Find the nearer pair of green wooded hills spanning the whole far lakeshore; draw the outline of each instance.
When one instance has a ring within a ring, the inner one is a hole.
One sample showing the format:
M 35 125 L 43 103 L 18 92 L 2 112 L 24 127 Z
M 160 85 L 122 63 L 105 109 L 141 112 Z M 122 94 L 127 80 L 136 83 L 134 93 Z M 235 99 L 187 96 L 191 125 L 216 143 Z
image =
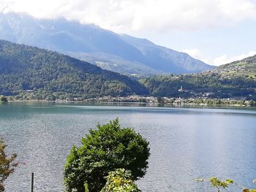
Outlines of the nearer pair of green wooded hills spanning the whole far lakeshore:
M 16 99 L 168 96 L 256 100 L 256 55 L 197 74 L 123 74 L 50 50 L 0 40 L 0 94 Z

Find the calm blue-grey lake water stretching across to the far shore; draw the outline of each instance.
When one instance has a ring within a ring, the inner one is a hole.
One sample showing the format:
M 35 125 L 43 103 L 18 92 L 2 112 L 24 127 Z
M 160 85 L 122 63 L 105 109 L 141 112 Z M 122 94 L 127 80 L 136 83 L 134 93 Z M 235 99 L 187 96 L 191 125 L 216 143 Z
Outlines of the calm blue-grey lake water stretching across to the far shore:
M 31 172 L 34 191 L 62 191 L 72 145 L 116 117 L 150 142 L 148 172 L 137 182 L 142 191 L 213 191 L 194 179 L 214 175 L 256 186 L 255 109 L 12 103 L 0 105 L 0 137 L 23 164 L 8 178 L 6 191 L 29 191 Z

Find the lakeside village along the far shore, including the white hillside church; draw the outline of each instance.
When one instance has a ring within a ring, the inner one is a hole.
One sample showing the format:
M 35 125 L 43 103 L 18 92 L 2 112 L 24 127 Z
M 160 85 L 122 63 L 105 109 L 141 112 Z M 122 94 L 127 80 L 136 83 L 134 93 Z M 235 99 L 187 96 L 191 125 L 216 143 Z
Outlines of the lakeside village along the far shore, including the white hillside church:
M 178 89 L 179 92 L 186 92 L 184 88 Z M 32 91 L 29 91 L 30 93 Z M 26 94 L 22 97 L 0 96 L 0 101 L 53 101 L 56 103 L 138 103 L 138 104 L 170 104 L 170 105 L 206 105 L 206 106 L 234 106 L 234 107 L 253 107 L 256 101 L 246 99 L 213 99 L 211 93 L 200 93 L 195 98 L 174 98 L 174 97 L 159 97 L 159 96 L 101 96 L 96 98 L 66 98 L 52 99 L 34 99 Z

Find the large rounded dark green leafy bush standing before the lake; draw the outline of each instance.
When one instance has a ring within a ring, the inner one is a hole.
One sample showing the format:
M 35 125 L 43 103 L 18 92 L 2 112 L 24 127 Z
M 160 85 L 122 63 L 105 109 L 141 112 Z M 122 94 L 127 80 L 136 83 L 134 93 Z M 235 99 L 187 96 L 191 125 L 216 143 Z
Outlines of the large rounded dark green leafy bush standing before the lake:
M 115 169 L 130 170 L 132 180 L 146 174 L 148 142 L 132 128 L 121 128 L 118 118 L 90 130 L 82 144 L 72 147 L 64 166 L 67 191 L 85 191 L 87 183 L 90 192 L 98 192 L 106 183 L 105 177 Z

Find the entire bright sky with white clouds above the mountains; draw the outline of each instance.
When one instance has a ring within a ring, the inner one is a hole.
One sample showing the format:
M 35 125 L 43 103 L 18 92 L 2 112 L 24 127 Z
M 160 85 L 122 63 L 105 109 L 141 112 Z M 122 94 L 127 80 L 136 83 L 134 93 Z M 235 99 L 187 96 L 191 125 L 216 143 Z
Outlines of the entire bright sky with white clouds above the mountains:
M 256 54 L 256 0 L 0 0 L 0 11 L 94 23 L 217 66 Z

